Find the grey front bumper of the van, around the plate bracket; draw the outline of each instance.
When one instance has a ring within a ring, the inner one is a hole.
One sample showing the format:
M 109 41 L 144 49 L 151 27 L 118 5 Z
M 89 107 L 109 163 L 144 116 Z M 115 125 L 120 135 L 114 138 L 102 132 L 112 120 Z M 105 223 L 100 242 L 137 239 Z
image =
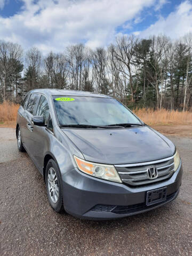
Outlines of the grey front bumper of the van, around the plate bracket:
M 66 212 L 81 219 L 106 220 L 122 218 L 165 205 L 179 194 L 182 165 L 169 180 L 141 187 L 100 180 L 73 169 L 62 176 L 63 203 Z M 166 201 L 146 206 L 146 193 L 167 187 Z

